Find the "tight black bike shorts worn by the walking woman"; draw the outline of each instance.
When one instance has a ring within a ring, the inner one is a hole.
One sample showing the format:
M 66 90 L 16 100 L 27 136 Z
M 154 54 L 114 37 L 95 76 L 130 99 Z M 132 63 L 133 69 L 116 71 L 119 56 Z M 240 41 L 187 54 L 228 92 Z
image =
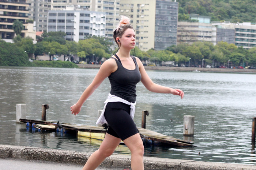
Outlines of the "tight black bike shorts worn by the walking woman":
M 139 133 L 130 116 L 130 107 L 122 102 L 109 102 L 104 112 L 105 119 L 109 124 L 107 133 L 122 139 L 122 141 Z

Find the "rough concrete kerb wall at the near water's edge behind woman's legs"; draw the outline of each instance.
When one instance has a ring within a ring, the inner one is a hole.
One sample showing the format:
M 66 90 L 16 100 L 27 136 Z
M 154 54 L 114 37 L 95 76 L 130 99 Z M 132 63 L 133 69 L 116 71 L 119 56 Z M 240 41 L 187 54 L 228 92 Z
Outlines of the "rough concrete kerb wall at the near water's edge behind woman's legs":
M 1 159 L 15 158 L 84 165 L 90 155 L 91 153 L 80 153 L 76 151 L 0 145 Z M 122 170 L 126 168 L 131 169 L 130 165 L 130 155 L 113 154 L 103 161 L 101 167 L 117 168 Z M 255 170 L 256 166 L 144 157 L 144 168 L 145 170 Z

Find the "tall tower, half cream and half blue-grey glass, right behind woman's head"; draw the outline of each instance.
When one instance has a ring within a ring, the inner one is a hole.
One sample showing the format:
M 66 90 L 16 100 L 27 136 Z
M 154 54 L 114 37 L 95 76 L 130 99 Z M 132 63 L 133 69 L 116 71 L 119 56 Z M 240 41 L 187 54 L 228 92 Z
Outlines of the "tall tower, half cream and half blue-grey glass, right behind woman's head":
M 169 0 L 121 0 L 120 15 L 128 16 L 140 50 L 164 50 L 177 43 L 178 3 Z

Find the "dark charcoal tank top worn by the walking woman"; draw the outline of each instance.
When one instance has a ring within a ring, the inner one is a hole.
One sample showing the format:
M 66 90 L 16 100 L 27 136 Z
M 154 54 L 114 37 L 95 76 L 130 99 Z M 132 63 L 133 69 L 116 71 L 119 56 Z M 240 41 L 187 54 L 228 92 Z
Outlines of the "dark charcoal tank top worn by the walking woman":
M 136 101 L 136 84 L 140 82 L 141 75 L 139 71 L 136 58 L 131 56 L 133 62 L 135 63 L 134 70 L 128 70 L 123 67 L 121 60 L 115 54 L 117 70 L 112 72 L 109 76 L 109 82 L 111 84 L 110 94 L 118 96 L 128 102 L 134 103 Z

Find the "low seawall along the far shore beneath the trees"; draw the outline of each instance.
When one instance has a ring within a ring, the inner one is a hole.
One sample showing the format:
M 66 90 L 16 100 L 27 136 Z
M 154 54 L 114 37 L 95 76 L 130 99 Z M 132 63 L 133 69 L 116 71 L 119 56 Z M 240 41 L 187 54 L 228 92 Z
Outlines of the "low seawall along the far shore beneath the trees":
M 93 64 L 78 64 L 79 68 L 95 68 L 98 69 L 101 65 Z M 165 66 L 144 66 L 146 70 L 172 70 L 172 71 L 202 71 L 202 72 L 241 72 L 241 73 L 256 73 L 256 69 L 238 69 L 238 68 L 197 68 L 197 67 L 165 67 Z

